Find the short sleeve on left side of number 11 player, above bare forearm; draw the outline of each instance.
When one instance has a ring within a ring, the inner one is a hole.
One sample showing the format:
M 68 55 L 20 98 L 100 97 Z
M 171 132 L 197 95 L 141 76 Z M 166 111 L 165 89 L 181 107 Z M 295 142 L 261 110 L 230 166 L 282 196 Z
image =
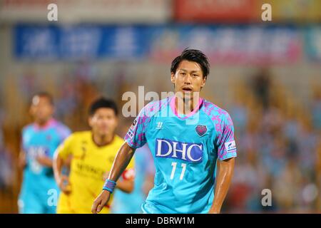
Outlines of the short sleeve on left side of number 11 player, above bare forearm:
M 124 140 L 130 147 L 139 148 L 146 144 L 146 125 L 148 119 L 145 107 L 138 114 L 125 135 Z

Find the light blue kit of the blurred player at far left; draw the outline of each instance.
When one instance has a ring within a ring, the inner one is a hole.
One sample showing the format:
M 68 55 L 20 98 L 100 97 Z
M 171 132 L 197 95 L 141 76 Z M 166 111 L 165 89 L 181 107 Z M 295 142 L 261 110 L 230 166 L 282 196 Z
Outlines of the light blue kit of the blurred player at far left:
M 44 167 L 36 160 L 38 155 L 53 159 L 58 145 L 71 131 L 62 123 L 51 119 L 44 127 L 36 124 L 22 131 L 22 149 L 26 152 L 26 167 L 19 195 L 19 212 L 26 214 L 55 213 L 56 205 L 49 197 L 58 194 L 51 167 Z M 58 195 L 57 195 L 58 197 Z

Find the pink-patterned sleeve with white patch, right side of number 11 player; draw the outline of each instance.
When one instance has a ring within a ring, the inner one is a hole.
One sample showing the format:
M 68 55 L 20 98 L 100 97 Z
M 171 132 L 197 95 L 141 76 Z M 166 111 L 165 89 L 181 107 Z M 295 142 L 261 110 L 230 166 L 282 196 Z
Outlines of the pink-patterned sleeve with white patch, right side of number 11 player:
M 226 160 L 237 156 L 233 121 L 228 113 L 223 115 L 218 134 L 218 159 Z

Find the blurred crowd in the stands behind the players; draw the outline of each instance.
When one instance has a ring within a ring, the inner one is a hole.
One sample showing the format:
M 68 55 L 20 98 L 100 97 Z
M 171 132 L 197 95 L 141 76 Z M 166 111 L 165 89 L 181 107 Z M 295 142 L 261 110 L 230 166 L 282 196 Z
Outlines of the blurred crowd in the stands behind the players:
M 8 101 L 1 95 L 0 212 L 17 212 L 19 142 L 21 128 L 31 121 L 28 108 L 34 93 L 48 88 L 55 98 L 55 117 L 72 130 L 85 130 L 87 108 L 94 98 L 100 94 L 112 97 L 121 110 L 121 94 L 138 86 L 128 86 L 121 73 L 106 83 L 96 78 L 88 64 L 79 65 L 61 81 L 41 85 L 35 73 L 29 72 L 12 85 L 11 90 L 21 95 L 24 111 L 13 114 L 20 120 L 11 118 L 9 110 L 4 110 Z M 298 103 L 268 68 L 230 87 L 231 102 L 220 106 L 233 118 L 238 158 L 223 212 L 320 212 L 321 88 L 314 85 L 311 89 L 312 97 Z M 132 120 L 120 118 L 118 135 L 123 136 Z M 264 189 L 272 192 L 270 207 L 261 203 Z

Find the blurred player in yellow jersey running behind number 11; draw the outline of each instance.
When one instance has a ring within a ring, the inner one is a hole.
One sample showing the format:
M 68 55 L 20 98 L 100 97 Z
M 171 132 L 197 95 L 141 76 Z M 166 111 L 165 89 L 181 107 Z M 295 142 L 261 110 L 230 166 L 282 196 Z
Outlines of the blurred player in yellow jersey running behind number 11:
M 57 213 L 91 213 L 91 205 L 104 186 L 108 172 L 123 139 L 115 134 L 118 110 L 112 100 L 100 98 L 89 110 L 90 131 L 73 133 L 58 147 L 54 157 L 54 173 L 61 189 Z M 70 160 L 68 176 L 63 165 Z M 117 187 L 131 192 L 135 172 L 133 162 L 128 165 Z M 111 201 L 103 208 L 110 212 Z

